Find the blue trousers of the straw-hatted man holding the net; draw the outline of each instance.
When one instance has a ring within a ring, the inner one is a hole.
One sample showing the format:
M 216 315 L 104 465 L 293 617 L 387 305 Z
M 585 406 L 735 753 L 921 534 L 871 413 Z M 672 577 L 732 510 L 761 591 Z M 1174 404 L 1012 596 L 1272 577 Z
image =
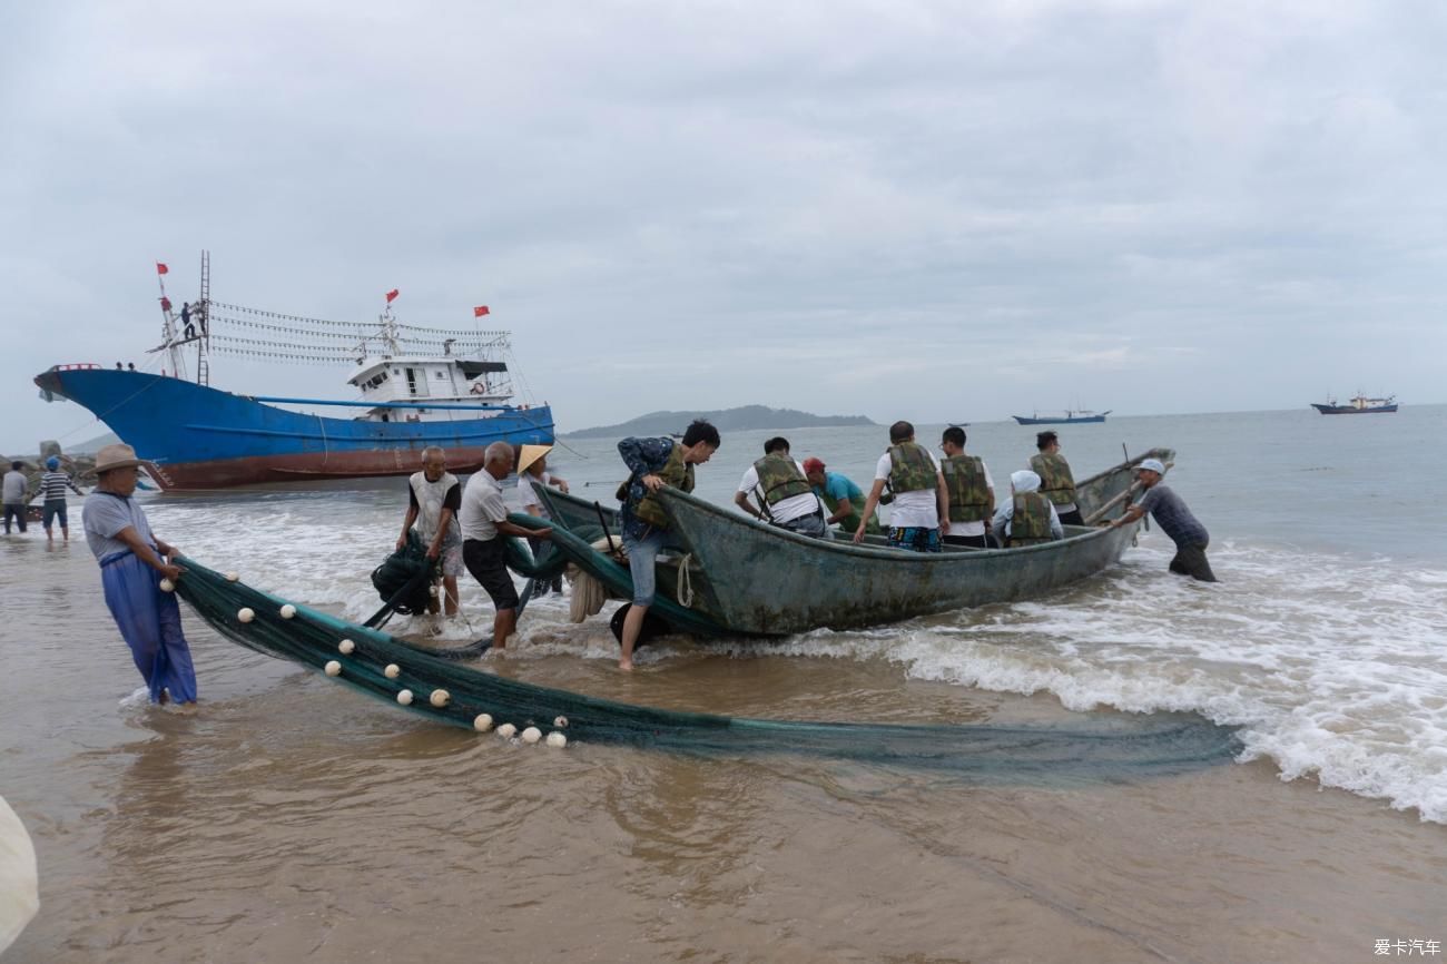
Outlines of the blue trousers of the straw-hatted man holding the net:
M 132 553 L 111 553 L 100 560 L 106 605 L 130 647 L 130 657 L 150 689 L 150 702 L 169 690 L 178 703 L 195 702 L 195 667 L 181 633 L 181 605 L 175 593 L 161 591 L 161 573 Z

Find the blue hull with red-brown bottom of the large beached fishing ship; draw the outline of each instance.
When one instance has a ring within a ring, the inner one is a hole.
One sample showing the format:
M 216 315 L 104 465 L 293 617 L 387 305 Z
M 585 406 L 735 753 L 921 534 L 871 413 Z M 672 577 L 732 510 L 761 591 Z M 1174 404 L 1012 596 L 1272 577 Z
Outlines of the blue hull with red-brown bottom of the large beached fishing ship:
M 447 450 L 449 469 L 472 472 L 493 441 L 553 443 L 547 405 L 492 408 L 453 421 L 382 423 L 307 415 L 140 372 L 52 369 L 35 382 L 93 411 L 136 449 L 166 491 L 410 475 L 427 446 Z

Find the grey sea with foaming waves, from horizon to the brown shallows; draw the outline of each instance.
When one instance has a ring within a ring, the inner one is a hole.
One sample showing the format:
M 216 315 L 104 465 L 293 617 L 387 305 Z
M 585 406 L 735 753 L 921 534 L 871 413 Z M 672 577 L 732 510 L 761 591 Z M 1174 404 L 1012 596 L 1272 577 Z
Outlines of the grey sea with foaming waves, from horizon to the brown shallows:
M 935 446 L 942 428 L 917 426 L 917 439 Z M 699 646 L 731 659 L 878 660 L 916 680 L 1051 693 L 1075 711 L 1192 711 L 1240 727 L 1243 760 L 1268 758 L 1283 779 L 1314 776 L 1447 822 L 1447 452 L 1431 444 L 1447 434 L 1447 407 L 1113 417 L 1053 428 L 1078 479 L 1119 463 L 1123 449 L 1175 449 L 1168 483 L 1210 530 L 1221 582 L 1168 573 L 1172 544 L 1152 530 L 1121 565 L 1036 599 L 765 646 Z M 1036 431 L 967 427 L 967 449 L 985 459 L 997 498 L 1007 496 L 1010 472 L 1026 468 Z M 883 426 L 731 433 L 699 466 L 697 494 L 731 502 L 774 434 L 800 460 L 818 456 L 865 491 L 887 444 Z M 574 495 L 616 505 L 625 469 L 614 440 L 564 436 L 550 469 Z M 353 620 L 378 605 L 366 573 L 395 540 L 405 504 L 399 479 L 148 496 L 158 531 L 197 559 Z M 469 622 L 449 635 L 482 635 L 491 611 L 463 585 Z M 605 631 L 566 622 L 564 601 L 534 602 L 522 622 L 524 641 L 540 637 L 515 647 L 522 659 L 615 659 Z M 641 659 L 687 651 L 658 647 Z

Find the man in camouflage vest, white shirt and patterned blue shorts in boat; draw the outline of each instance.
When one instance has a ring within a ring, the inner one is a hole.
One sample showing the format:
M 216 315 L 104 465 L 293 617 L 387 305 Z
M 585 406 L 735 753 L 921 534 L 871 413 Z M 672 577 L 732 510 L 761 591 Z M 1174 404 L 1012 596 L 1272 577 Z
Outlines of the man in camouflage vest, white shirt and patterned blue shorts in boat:
M 864 501 L 864 518 L 874 515 L 886 483 L 894 494 L 890 546 L 938 553 L 941 534 L 949 534 L 949 489 L 935 454 L 915 441 L 915 426 L 907 421 L 890 426 L 890 447 L 874 466 L 874 488 Z M 854 530 L 854 541 L 864 541 L 864 530 L 861 523 Z

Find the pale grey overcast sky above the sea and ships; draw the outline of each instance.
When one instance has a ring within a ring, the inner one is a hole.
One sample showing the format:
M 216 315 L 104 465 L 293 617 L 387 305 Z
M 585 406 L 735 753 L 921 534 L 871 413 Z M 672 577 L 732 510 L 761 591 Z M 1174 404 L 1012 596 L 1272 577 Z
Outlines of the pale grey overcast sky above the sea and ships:
M 560 430 L 1447 399 L 1447 4 L 6 3 L 0 447 L 192 297 L 514 331 Z M 347 397 L 218 356 L 213 385 Z

